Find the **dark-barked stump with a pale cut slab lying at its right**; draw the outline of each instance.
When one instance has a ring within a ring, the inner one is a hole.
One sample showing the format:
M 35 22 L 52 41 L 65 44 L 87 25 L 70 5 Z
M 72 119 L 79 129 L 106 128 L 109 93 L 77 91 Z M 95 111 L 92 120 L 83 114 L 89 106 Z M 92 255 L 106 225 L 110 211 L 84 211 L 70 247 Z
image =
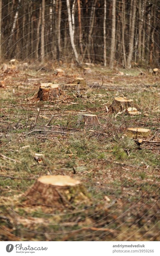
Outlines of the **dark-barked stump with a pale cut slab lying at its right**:
M 126 97 L 116 97 L 114 98 L 109 109 L 111 109 L 113 113 L 118 113 L 125 109 L 128 109 L 129 107 L 133 107 L 133 100 L 127 99 Z

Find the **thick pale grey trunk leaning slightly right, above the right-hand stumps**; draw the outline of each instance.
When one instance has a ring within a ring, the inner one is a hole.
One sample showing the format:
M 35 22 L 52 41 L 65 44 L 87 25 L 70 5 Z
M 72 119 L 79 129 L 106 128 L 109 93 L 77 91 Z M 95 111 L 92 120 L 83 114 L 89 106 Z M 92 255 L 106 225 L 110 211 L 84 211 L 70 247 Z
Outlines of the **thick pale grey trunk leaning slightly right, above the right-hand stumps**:
M 134 30 L 135 30 L 135 14 L 136 14 L 136 1 L 133 0 L 133 7 L 132 7 L 132 20 L 131 20 L 131 33 L 129 38 L 130 47 L 128 50 L 128 58 L 127 58 L 127 68 L 131 68 L 131 60 L 133 55 L 133 43 L 134 43 Z

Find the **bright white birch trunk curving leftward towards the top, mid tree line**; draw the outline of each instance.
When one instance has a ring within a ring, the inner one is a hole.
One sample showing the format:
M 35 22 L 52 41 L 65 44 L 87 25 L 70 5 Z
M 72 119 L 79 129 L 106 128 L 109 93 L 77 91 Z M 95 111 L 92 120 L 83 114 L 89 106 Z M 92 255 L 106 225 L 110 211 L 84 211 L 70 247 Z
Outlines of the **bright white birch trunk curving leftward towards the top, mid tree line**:
M 72 18 L 71 18 L 71 10 L 70 10 L 70 3 L 69 0 L 67 1 L 67 11 L 68 11 L 68 23 L 69 23 L 69 34 L 70 34 L 70 40 L 71 40 L 71 45 L 72 49 L 76 58 L 76 62 L 79 64 L 79 58 L 78 58 L 78 53 L 76 50 L 76 46 L 74 44 L 74 34 L 73 34 L 73 27 L 72 27 Z

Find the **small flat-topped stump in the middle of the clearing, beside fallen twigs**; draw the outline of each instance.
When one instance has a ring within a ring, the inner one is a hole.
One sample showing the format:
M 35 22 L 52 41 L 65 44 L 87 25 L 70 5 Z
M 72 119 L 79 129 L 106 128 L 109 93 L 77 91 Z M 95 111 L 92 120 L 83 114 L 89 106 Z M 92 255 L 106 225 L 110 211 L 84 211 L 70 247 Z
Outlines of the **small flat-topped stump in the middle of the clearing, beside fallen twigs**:
M 77 125 L 99 125 L 99 120 L 97 115 L 82 114 L 77 120 Z

